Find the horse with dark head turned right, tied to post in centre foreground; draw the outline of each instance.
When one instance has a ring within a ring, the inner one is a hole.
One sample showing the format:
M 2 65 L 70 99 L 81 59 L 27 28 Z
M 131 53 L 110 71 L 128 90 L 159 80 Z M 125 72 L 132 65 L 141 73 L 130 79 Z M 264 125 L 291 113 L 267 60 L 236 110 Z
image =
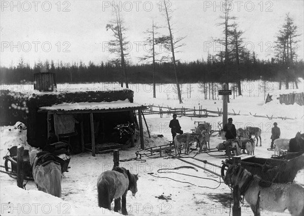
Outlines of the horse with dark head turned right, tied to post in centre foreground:
M 137 180 L 138 174 L 131 174 L 128 169 L 122 167 L 114 167 L 112 170 L 102 172 L 97 179 L 98 206 L 110 210 L 114 199 L 114 211 L 118 212 L 122 209 L 122 213 L 127 215 L 126 196 L 128 190 L 135 196 Z

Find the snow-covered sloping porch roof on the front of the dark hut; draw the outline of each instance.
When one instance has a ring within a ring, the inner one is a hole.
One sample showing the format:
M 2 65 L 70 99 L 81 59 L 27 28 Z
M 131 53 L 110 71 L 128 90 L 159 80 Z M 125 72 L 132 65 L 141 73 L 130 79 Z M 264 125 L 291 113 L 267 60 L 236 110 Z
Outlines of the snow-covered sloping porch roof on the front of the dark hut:
M 136 109 L 144 108 L 146 106 L 137 103 L 130 103 L 128 99 L 121 101 L 111 101 L 111 102 L 80 102 L 80 103 L 62 103 L 52 106 L 40 107 L 42 111 L 84 111 L 84 110 L 122 110 L 122 109 Z

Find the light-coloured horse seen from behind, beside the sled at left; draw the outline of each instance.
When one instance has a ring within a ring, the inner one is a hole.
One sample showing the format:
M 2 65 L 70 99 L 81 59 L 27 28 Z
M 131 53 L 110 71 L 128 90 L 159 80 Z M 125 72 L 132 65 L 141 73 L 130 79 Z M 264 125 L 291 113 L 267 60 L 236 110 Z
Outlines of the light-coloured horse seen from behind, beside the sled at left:
M 39 191 L 61 197 L 61 165 L 50 154 L 47 157 L 40 154 L 39 149 L 30 149 L 29 158 L 32 166 L 33 179 Z M 42 152 L 43 153 L 43 152 Z

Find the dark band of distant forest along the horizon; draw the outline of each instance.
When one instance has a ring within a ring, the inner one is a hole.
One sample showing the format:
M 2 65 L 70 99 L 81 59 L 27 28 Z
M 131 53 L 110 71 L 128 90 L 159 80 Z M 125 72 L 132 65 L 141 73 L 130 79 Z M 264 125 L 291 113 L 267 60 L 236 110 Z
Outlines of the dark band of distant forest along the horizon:
M 286 77 L 290 81 L 298 77 L 304 78 L 303 61 L 294 61 L 292 68 L 271 61 L 248 59 L 240 63 L 239 67 L 231 63 L 228 71 L 228 81 L 237 80 L 269 80 L 283 81 Z M 1 82 L 18 83 L 20 81 L 33 81 L 33 74 L 37 72 L 52 72 L 56 74 L 56 82 L 115 82 L 121 81 L 121 67 L 116 62 L 101 62 L 96 65 L 80 63 L 54 63 L 39 62 L 34 67 L 20 60 L 17 66 L 10 68 L 0 67 Z M 177 62 L 177 73 L 181 83 L 193 82 L 223 82 L 225 79 L 224 63 L 215 58 L 207 61 Z M 151 83 L 153 82 L 153 66 L 150 64 L 127 65 L 128 82 Z M 155 79 L 157 83 L 174 83 L 174 71 L 172 63 L 157 63 Z

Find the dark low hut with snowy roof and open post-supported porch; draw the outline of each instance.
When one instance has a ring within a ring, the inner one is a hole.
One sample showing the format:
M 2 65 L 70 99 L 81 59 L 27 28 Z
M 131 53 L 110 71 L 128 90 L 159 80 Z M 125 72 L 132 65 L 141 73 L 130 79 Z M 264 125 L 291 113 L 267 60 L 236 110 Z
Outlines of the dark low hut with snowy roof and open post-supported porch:
M 43 148 L 48 143 L 67 141 L 73 153 L 90 150 L 95 155 L 126 143 L 133 145 L 136 126 L 144 148 L 141 110 L 146 107 L 133 103 L 133 94 L 129 89 L 25 94 L 6 91 L 1 95 L 5 102 L 1 111 L 7 118 L 17 115 L 26 123 L 31 146 Z M 22 104 L 24 109 L 12 109 L 12 104 Z

